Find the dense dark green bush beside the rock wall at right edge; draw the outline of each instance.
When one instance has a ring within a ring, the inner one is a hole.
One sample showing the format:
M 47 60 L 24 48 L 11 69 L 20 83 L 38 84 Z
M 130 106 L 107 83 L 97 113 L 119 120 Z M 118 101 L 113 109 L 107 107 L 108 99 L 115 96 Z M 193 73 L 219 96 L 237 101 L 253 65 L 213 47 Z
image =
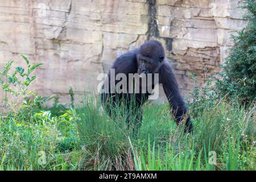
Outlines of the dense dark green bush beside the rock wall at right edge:
M 247 0 L 243 8 L 247 9 L 249 23 L 237 36 L 232 36 L 234 46 L 216 86 L 221 97 L 227 95 L 230 101 L 239 99 L 247 104 L 255 99 L 256 93 L 256 3 Z

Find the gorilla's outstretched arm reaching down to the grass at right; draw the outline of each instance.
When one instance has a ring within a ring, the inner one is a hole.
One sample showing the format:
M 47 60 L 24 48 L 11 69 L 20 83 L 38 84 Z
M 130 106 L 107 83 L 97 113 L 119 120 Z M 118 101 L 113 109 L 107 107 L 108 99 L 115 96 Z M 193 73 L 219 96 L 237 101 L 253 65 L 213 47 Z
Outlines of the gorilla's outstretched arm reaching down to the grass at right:
M 170 103 L 172 115 L 176 123 L 179 124 L 187 113 L 187 106 L 180 95 L 174 72 L 167 60 L 164 60 L 162 67 L 159 69 L 159 82 L 163 84 L 164 93 Z M 192 131 L 192 123 L 189 116 L 185 123 L 185 131 Z

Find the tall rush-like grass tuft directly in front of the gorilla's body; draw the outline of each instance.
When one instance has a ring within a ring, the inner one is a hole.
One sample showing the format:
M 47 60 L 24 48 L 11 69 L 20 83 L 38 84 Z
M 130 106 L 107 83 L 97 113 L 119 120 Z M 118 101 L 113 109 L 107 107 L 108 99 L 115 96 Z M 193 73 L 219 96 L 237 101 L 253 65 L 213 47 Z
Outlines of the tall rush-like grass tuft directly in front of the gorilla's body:
M 93 95 L 85 97 L 78 106 L 76 125 L 86 168 L 134 169 L 128 140 L 133 130 L 127 128 L 126 111 L 120 108 L 112 108 L 115 117 L 109 117 Z

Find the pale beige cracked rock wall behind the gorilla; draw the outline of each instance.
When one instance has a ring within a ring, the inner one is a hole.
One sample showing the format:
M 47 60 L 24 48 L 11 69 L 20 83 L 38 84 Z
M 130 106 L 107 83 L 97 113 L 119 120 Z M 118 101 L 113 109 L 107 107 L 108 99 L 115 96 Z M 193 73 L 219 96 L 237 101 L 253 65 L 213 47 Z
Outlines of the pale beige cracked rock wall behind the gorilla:
M 95 89 L 97 75 L 115 57 L 148 39 L 162 42 L 183 96 L 218 71 L 232 46 L 230 35 L 246 26 L 237 0 L 0 0 L 0 66 L 24 65 L 20 53 L 43 63 L 33 90 L 68 102 Z M 0 91 L 0 96 L 3 92 Z

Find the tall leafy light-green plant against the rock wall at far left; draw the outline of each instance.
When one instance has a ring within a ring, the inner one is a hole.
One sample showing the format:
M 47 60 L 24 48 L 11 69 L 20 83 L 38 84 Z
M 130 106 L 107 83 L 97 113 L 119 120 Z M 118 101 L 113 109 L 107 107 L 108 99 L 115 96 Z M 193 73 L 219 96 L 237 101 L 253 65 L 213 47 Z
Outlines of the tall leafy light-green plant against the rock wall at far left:
M 5 97 L 2 99 L 2 107 L 9 108 L 17 111 L 21 106 L 23 108 L 41 108 L 42 105 L 51 100 L 51 97 L 38 96 L 35 92 L 28 91 L 28 86 L 31 85 L 36 78 L 33 76 L 35 69 L 38 68 L 42 63 L 30 64 L 27 57 L 21 55 L 23 60 L 27 64 L 27 68 L 15 67 L 14 71 L 11 72 L 11 68 L 14 61 L 8 61 L 4 70 L 0 71 L 0 75 L 5 77 L 5 81 L 1 81 L 2 90 L 5 92 Z M 7 94 L 11 94 L 14 100 L 7 97 Z

